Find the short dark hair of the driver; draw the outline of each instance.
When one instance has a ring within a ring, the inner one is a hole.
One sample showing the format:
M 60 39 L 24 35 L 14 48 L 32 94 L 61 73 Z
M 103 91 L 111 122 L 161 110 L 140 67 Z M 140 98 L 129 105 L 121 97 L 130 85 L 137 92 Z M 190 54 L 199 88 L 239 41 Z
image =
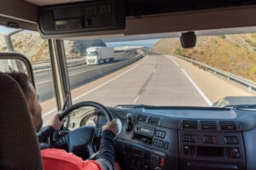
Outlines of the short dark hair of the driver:
M 26 97 L 26 102 L 34 98 L 34 96 L 32 95 L 31 89 L 29 88 L 29 82 L 31 82 L 31 80 L 26 75 L 26 73 L 13 71 L 13 72 L 7 72 L 6 74 L 9 75 L 9 77 L 12 77 L 13 79 L 15 79 L 15 81 L 19 83 L 20 88 L 22 89 L 22 92 Z

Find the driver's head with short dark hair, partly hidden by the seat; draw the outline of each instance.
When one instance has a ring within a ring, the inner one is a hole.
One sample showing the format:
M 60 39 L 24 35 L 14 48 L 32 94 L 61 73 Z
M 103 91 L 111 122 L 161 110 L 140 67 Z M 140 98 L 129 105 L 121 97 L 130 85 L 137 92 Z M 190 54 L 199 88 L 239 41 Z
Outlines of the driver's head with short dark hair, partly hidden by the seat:
M 20 84 L 20 88 L 23 91 L 23 94 L 26 97 L 26 103 L 28 106 L 28 110 L 30 112 L 30 116 L 32 117 L 32 121 L 34 123 L 35 129 L 38 132 L 42 125 L 42 107 L 39 104 L 39 96 L 36 92 L 36 89 L 33 87 L 30 78 L 26 76 L 23 72 L 10 72 L 7 73 L 10 77 L 13 77 L 16 82 Z

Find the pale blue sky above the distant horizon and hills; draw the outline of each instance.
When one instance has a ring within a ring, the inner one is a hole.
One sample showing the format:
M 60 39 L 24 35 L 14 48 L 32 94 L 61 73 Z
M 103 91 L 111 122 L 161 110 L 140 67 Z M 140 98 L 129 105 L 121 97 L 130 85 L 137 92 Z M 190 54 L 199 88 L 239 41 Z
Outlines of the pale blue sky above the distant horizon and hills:
M 9 28 L 6 26 L 0 26 L 0 33 L 7 33 L 10 31 L 15 31 L 16 29 Z M 153 48 L 154 44 L 158 42 L 159 39 L 150 39 L 150 40 L 139 40 L 139 41 L 128 41 L 128 42 L 107 42 L 108 47 L 121 47 L 121 46 L 139 46 L 139 47 L 148 47 Z

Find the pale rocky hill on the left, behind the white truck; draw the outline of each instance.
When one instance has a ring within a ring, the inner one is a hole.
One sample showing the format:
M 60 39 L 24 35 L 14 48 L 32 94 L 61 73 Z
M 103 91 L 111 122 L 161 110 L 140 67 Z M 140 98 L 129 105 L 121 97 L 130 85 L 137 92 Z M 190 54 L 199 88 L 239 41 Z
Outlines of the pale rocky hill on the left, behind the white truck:
M 38 32 L 20 32 L 11 37 L 17 53 L 24 54 L 31 61 L 49 60 L 47 40 L 41 39 Z M 86 48 L 106 47 L 102 40 L 65 40 L 66 57 L 76 58 L 85 55 Z M 0 34 L 0 52 L 8 52 L 3 34 Z

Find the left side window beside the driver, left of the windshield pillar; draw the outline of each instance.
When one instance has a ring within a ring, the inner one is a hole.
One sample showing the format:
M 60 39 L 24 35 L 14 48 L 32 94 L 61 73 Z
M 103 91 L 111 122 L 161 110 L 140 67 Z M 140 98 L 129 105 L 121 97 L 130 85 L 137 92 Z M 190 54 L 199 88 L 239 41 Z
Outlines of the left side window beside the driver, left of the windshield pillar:
M 46 124 L 57 111 L 48 40 L 42 39 L 37 31 L 15 31 L 0 26 L 0 52 L 23 54 L 30 60 Z M 10 33 L 15 34 L 9 37 Z

